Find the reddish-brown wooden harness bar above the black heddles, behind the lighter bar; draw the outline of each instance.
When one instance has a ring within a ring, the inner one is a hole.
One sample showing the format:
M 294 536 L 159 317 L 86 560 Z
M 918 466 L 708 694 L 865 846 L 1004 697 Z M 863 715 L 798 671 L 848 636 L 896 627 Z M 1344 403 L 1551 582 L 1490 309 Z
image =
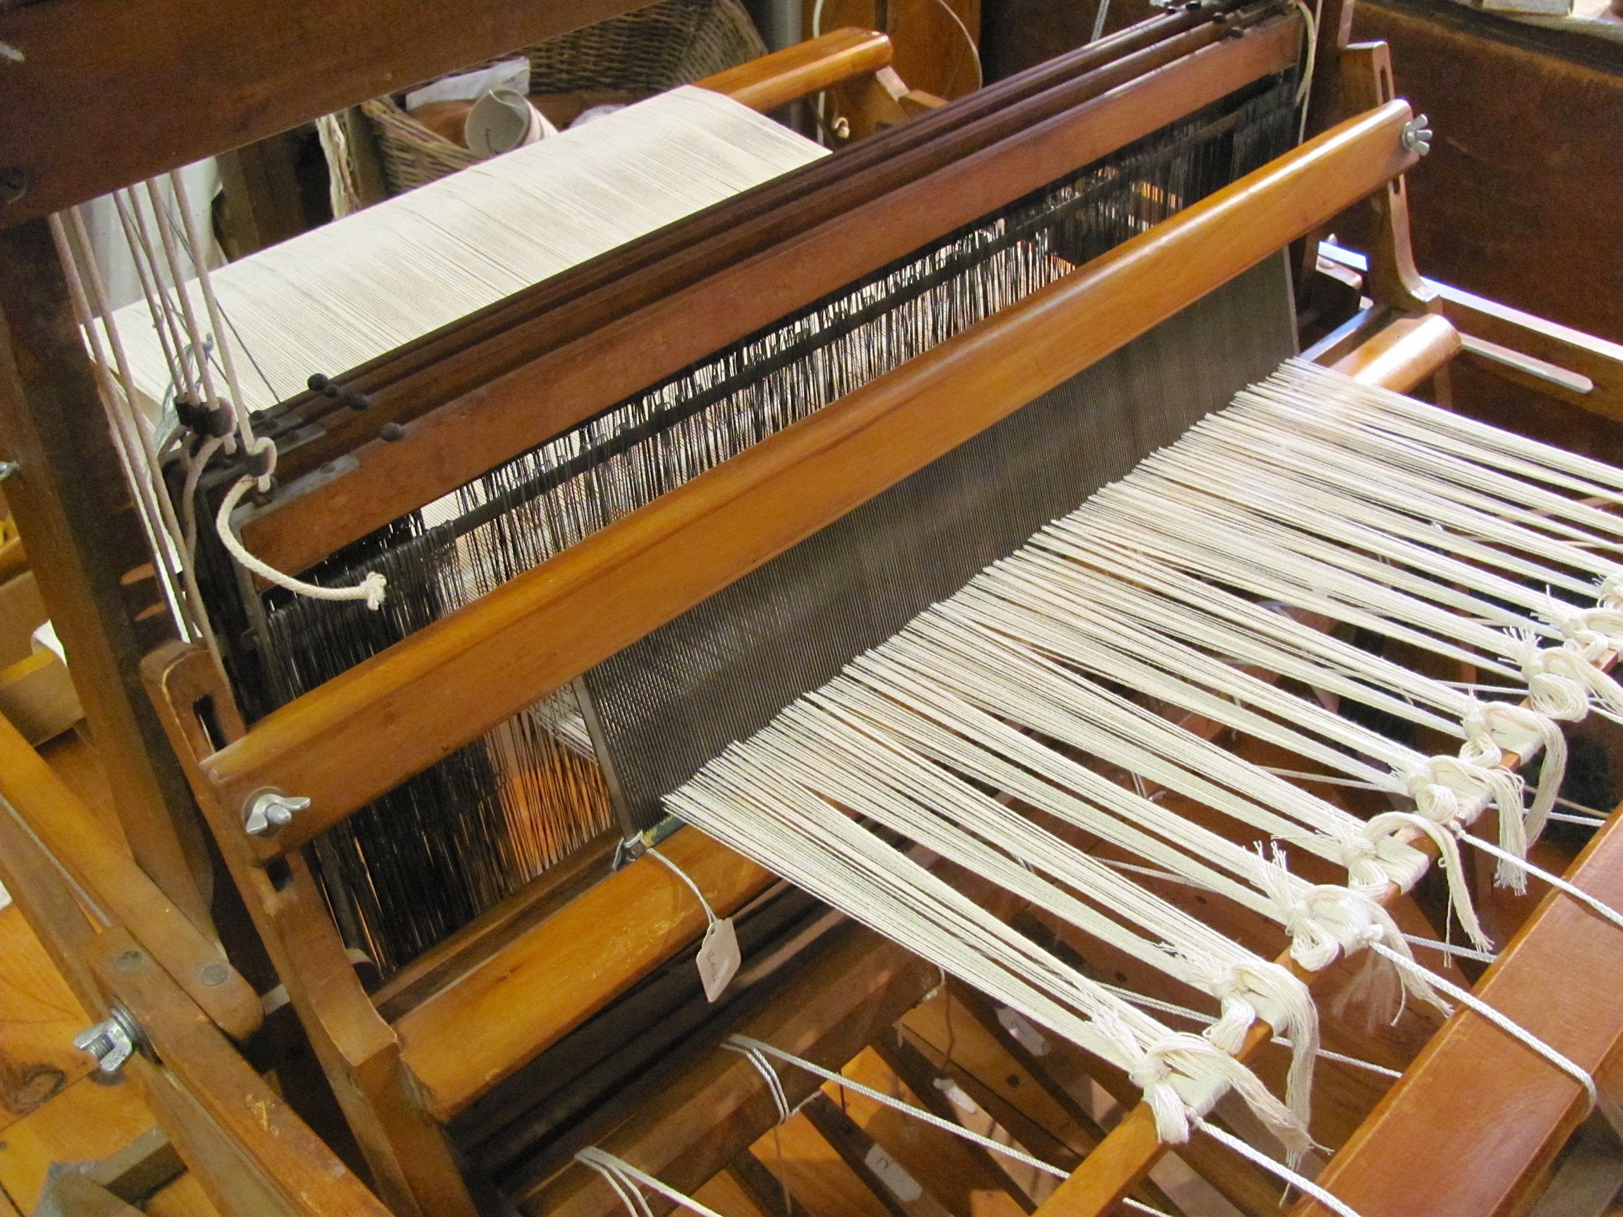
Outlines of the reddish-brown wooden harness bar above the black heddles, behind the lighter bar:
M 607 284 L 592 295 L 571 299 L 558 316 L 536 320 L 534 334 L 513 329 L 500 342 L 492 339 L 502 349 L 527 342 L 531 349 L 523 355 L 510 350 L 503 362 L 489 350 L 458 352 L 422 380 L 438 385 L 454 376 L 453 383 L 464 385 L 459 396 L 433 398 L 435 409 L 414 422 L 409 412 L 396 415 L 406 419 L 396 440 L 370 436 L 385 417 L 403 409 L 404 404 L 391 406 L 403 386 L 375 394 L 365 417 L 349 424 L 367 427 L 368 441 L 289 485 L 263 513 L 248 513 L 240 522 L 243 542 L 273 566 L 305 570 L 339 545 L 828 292 L 1185 117 L 1191 107 L 1284 70 L 1295 62 L 1300 23 L 1295 16 L 1277 18 L 1242 39 L 1219 36 L 1220 29 L 1206 26 L 1113 62 L 1065 89 L 1092 101 L 1014 127 L 998 143 L 972 148 L 923 177 L 904 178 L 876 198 L 859 195 L 815 226 L 787 227 L 800 214 L 799 206 L 760 216 L 738 234 L 717 239 L 706 256 L 722 256 L 698 281 L 691 279 L 691 263 L 704 248 L 680 250 L 672 258 L 674 269 L 652 276 L 657 290 L 636 302 L 635 310 L 613 303 L 620 289 Z M 1208 45 L 1198 49 L 1203 42 Z M 1164 67 L 1147 70 L 1156 63 Z M 1047 105 L 1048 99 L 1035 99 L 1024 109 L 1040 114 Z M 1018 117 L 997 115 L 987 125 L 1003 130 Z M 860 151 L 859 146 L 855 153 Z M 936 149 L 927 151 L 933 156 Z M 881 166 L 875 172 L 899 170 Z M 852 188 L 863 180 L 867 175 L 859 175 Z M 833 187 L 829 198 L 839 198 Z M 732 204 L 725 209 L 730 214 Z M 461 360 L 472 362 L 477 375 L 463 370 Z M 312 445 L 308 456 L 295 448 L 289 469 L 334 454 L 333 445 L 325 443 Z

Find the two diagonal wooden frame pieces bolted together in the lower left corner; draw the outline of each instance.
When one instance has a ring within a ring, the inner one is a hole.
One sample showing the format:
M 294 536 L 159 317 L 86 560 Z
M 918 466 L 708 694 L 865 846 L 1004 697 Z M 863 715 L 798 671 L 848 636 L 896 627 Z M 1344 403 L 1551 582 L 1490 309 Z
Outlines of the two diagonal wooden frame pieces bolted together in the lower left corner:
M 80 1004 L 135 1019 L 125 1068 L 224 1217 L 390 1217 L 221 1032 L 258 1026 L 253 990 L 3 719 L 0 881 Z

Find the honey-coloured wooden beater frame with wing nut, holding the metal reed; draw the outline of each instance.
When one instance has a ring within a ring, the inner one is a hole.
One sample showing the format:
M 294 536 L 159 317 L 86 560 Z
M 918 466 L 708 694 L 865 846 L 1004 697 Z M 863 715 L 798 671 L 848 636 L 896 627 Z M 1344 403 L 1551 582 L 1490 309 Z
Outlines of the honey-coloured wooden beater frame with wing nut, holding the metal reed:
M 398 664 L 404 656 L 415 669 L 425 657 L 428 662 L 420 664 L 420 672 L 428 680 L 448 678 L 451 686 L 479 690 L 479 699 L 487 704 L 498 696 L 513 701 L 514 707 L 529 704 L 545 691 L 547 682 L 555 686 L 573 678 L 639 636 L 630 631 L 646 631 L 669 620 L 1341 208 L 1384 190 L 1414 161 L 1399 138 L 1409 117 L 1407 105 L 1389 102 L 1349 120 L 1079 268 L 1053 289 L 610 526 L 597 534 L 596 545 L 589 540 L 506 584 L 464 610 L 459 621 L 446 618 L 463 630 L 471 623 L 466 638 L 477 634 L 497 641 L 503 649 L 500 680 L 467 662 L 466 654 L 453 657 L 458 633 L 451 634 L 451 649 L 433 636 L 417 634 L 380 659 L 393 657 Z M 1208 256 L 1190 256 L 1196 247 Z M 920 427 L 920 417 L 928 417 L 930 425 Z M 836 469 L 847 472 L 834 475 Z M 794 503 L 799 510 L 789 511 Z M 703 531 L 717 522 L 719 532 L 701 539 L 683 535 L 695 524 Z M 683 552 L 687 561 L 670 561 L 670 555 Z M 709 570 L 672 584 L 669 571 L 693 574 L 693 555 L 706 552 L 714 557 Z M 625 565 L 626 557 L 630 565 Z M 560 566 L 571 573 L 560 578 Z M 617 568 L 622 573 L 617 574 Z M 626 578 L 631 581 L 617 586 L 615 579 Z M 560 597 L 557 589 L 570 581 L 578 587 L 575 597 Z M 630 626 L 618 623 L 612 631 L 604 630 L 609 621 L 604 605 L 625 602 L 625 589 L 636 591 L 631 599 L 644 605 L 644 615 Z M 529 600 L 537 591 L 540 599 Z M 513 600 L 514 596 L 519 599 Z M 537 605 L 542 612 L 536 612 Z M 596 636 L 568 633 L 583 626 Z M 514 664 L 534 646 L 534 630 L 542 631 L 552 651 L 550 667 L 539 682 Z M 385 743 L 403 730 L 422 732 L 414 707 L 445 704 L 446 695 L 415 686 L 415 675 L 399 682 L 388 664 L 375 660 L 372 667 L 385 669 L 385 685 L 398 696 L 393 704 L 377 701 L 367 685 L 357 693 L 333 682 L 302 699 L 304 704 L 294 703 L 292 712 L 282 712 L 281 720 L 271 716 L 250 732 L 235 720 L 229 693 L 204 652 L 170 649 L 154 656 L 148 677 L 195 793 L 316 1053 L 334 1076 L 385 1199 L 406 1212 L 419 1211 L 417 1206 L 456 1212 L 466 1211 L 459 1202 L 471 1202 L 466 1193 L 458 1196 L 454 1168 L 430 1118 L 453 1116 L 557 1035 L 578 1026 L 670 948 L 696 935 L 703 915 L 662 868 L 649 867 L 648 860 L 633 863 L 424 1000 L 394 1026 L 385 1022 L 354 977 L 315 879 L 295 849 L 373 792 L 351 785 L 342 797 L 354 802 L 344 806 L 333 800 L 333 789 L 320 787 L 308 826 L 295 823 L 292 832 L 269 842 L 242 832 L 239 811 L 242 793 L 269 785 L 295 793 L 316 789 L 312 785 L 316 769 L 308 768 L 308 761 L 312 750 L 321 745 L 315 738 L 318 733 L 308 732 L 310 706 L 326 712 L 341 707 L 341 716 L 359 729 L 344 746 L 359 742 L 364 751 L 354 755 L 373 758 L 378 766 L 373 781 L 381 782 L 378 790 L 407 776 L 409 766 L 435 759 L 435 748 L 419 748 L 403 764 Z M 498 690 L 503 691 L 498 695 Z M 219 740 L 204 735 L 200 703 L 211 703 Z M 458 714 L 466 711 L 467 706 L 458 703 Z M 386 722 L 383 732 L 357 717 L 378 712 L 381 717 L 368 720 Z M 292 745 L 300 768 L 289 771 L 291 781 L 281 771 L 260 769 L 253 756 L 255 750 L 278 756 L 287 748 L 281 725 L 287 722 L 300 735 Z M 438 724 L 435 730 L 440 732 L 435 746 L 450 748 L 466 742 L 459 735 L 472 738 L 482 727 L 464 717 Z M 266 740 L 273 745 L 268 750 L 263 748 Z M 232 777 L 222 781 L 222 774 Z M 339 806 L 342 811 L 336 810 Z M 672 837 L 665 852 L 700 883 L 721 914 L 738 907 L 769 881 L 753 863 L 688 831 Z M 607 910 L 617 914 L 613 923 L 636 930 L 605 938 Z M 597 957 L 609 943 L 617 953 L 615 967 L 604 967 Z M 573 956 L 579 956 L 578 965 L 571 965 Z M 578 987 L 588 975 L 596 975 L 597 982 L 565 996 L 553 983 L 560 970 L 575 975 Z M 513 1008 L 526 1009 L 526 1017 L 506 1017 Z M 474 1027 L 479 1034 L 471 1034 Z

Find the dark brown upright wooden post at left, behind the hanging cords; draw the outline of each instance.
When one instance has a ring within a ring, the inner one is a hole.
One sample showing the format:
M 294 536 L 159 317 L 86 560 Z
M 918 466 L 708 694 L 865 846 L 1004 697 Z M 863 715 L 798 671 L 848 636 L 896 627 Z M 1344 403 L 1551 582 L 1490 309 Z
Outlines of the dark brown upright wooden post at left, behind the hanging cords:
M 174 630 L 42 219 L 0 232 L 0 456 L 130 850 L 213 935 L 201 826 L 140 677 Z

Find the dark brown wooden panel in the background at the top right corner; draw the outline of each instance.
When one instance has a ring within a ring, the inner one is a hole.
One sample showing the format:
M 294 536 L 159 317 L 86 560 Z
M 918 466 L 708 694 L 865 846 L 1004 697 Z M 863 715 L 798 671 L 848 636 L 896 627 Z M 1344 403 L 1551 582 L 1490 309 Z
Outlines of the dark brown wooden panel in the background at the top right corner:
M 1608 71 L 1440 8 L 1360 3 L 1354 18 L 1355 37 L 1391 44 L 1399 94 L 1436 131 L 1409 174 L 1415 261 L 1433 279 L 1623 339 L 1623 45 L 1610 44 Z

